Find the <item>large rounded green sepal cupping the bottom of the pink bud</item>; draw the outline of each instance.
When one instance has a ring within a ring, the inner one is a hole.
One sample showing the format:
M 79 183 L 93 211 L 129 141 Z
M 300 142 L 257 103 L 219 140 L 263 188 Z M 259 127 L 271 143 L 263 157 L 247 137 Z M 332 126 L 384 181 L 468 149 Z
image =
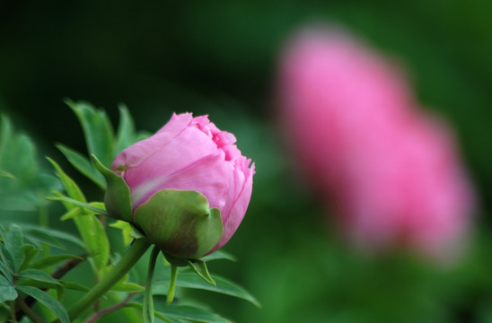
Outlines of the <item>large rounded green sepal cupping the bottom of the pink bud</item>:
M 224 230 L 220 210 L 210 209 L 206 196 L 176 189 L 163 189 L 138 206 L 133 223 L 163 252 L 187 259 L 205 256 Z

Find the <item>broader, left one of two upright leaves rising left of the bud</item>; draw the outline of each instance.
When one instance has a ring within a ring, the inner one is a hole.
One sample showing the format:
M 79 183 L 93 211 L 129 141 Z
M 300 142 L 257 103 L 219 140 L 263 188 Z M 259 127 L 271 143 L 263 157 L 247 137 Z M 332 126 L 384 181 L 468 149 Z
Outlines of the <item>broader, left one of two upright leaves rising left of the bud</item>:
M 106 112 L 94 109 L 86 102 L 67 100 L 66 104 L 74 110 L 81 123 L 89 153 L 98 156 L 102 164 L 110 166 L 113 160 L 114 132 Z

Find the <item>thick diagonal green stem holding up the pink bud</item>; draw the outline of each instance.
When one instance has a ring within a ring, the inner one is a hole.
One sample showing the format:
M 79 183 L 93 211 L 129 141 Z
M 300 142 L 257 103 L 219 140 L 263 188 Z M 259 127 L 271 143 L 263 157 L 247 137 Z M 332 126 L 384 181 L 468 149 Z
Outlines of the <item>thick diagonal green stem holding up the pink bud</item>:
M 95 301 L 99 300 L 112 286 L 117 284 L 132 266 L 136 264 L 136 261 L 145 254 L 145 251 L 149 249 L 150 246 L 151 244 L 144 239 L 134 240 L 119 263 L 114 266 L 107 275 L 102 277 L 99 284 L 96 284 L 92 287 L 92 290 L 83 295 L 83 298 L 80 299 L 80 301 L 77 301 L 72 309 L 68 310 L 70 321 L 74 321 L 78 318 L 84 310 L 91 306 Z

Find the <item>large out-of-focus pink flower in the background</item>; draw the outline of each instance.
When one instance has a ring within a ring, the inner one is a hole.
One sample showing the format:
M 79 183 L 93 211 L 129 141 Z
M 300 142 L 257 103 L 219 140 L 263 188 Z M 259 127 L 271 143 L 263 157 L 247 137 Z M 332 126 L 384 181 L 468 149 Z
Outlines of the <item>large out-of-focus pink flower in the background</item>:
M 470 184 L 449 130 L 417 109 L 395 65 L 346 31 L 303 31 L 281 59 L 279 105 L 303 173 L 351 240 L 452 253 Z

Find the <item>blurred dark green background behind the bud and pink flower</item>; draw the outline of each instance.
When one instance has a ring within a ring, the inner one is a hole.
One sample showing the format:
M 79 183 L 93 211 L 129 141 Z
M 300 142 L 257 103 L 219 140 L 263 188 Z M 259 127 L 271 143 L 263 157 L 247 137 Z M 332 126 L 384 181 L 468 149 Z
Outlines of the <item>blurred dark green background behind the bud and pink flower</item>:
M 248 214 L 225 247 L 238 262 L 211 270 L 263 308 L 190 296 L 234 321 L 491 322 L 492 3 L 398 3 L 2 1 L 0 113 L 40 144 L 41 156 L 60 161 L 55 143 L 85 149 L 65 98 L 104 107 L 115 125 L 123 102 L 138 129 L 192 111 L 233 132 L 257 174 Z M 400 62 L 417 100 L 452 125 L 479 200 L 457 264 L 351 249 L 295 172 L 272 88 L 280 48 L 309 22 L 341 24 Z

